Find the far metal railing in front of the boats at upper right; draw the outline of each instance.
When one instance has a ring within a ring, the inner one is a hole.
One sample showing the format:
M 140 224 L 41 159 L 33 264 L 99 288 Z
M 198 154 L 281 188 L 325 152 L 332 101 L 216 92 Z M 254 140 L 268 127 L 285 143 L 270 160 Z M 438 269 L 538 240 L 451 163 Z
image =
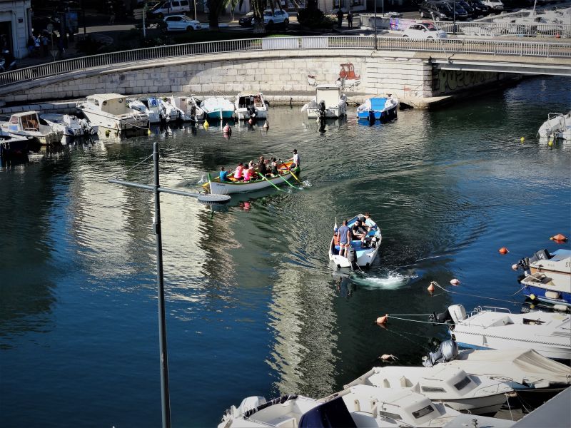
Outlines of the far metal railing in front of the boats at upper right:
M 452 22 L 441 22 L 440 29 L 454 32 Z M 571 37 L 571 24 L 515 24 L 510 22 L 457 22 L 456 33 L 466 36 L 552 36 Z

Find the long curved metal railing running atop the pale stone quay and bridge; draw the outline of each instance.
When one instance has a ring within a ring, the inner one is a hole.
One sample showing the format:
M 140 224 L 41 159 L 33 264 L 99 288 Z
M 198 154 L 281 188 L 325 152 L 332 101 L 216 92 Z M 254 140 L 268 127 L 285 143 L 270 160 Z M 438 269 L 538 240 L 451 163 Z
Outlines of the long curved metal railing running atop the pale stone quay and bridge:
M 378 37 L 380 51 L 439 51 L 459 54 L 488 54 L 507 56 L 540 56 L 571 58 L 571 44 L 535 41 L 490 39 L 438 39 L 420 40 L 403 37 Z M 0 87 L 14 85 L 64 73 L 106 69 L 120 64 L 143 63 L 156 59 L 181 58 L 226 52 L 273 51 L 296 49 L 375 49 L 374 36 L 310 36 L 241 39 L 190 43 L 131 51 L 111 52 L 82 56 L 38 66 L 0 73 Z

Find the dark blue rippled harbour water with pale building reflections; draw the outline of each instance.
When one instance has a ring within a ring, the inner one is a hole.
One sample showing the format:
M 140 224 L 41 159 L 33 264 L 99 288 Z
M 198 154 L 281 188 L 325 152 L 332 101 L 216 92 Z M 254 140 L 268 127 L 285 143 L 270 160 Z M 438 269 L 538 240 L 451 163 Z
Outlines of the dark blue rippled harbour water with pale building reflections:
M 400 320 L 384 330 L 373 323 L 380 315 L 510 305 L 430 297 L 432 280 L 522 301 L 511 297 L 512 263 L 571 235 L 571 147 L 535 139 L 548 112 L 569 110 L 570 83 L 533 78 L 383 126 L 330 122 L 325 133 L 298 108 L 276 107 L 268 132 L 234 128 L 227 140 L 217 126 L 196 135 L 184 126 L 4 164 L 4 426 L 160 426 L 152 195 L 106 182 L 151 183 L 148 161 L 132 167 L 153 141 L 161 182 L 174 188 L 261 153 L 297 148 L 302 158 L 302 190 L 233 196 L 216 209 L 161 196 L 173 427 L 207 427 L 248 395 L 335 392 L 383 354 L 418 364 L 445 337 Z M 333 272 L 335 217 L 365 210 L 383 232 L 378 264 Z

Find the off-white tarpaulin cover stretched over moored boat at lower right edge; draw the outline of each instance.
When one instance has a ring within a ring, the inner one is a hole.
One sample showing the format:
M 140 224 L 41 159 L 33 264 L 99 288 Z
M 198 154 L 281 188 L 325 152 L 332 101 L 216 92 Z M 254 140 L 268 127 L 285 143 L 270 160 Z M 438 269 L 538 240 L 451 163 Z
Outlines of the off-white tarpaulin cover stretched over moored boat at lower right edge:
M 465 350 L 445 363 L 468 374 L 506 377 L 520 384 L 547 387 L 549 383 L 571 383 L 571 367 L 543 357 L 534 350 Z

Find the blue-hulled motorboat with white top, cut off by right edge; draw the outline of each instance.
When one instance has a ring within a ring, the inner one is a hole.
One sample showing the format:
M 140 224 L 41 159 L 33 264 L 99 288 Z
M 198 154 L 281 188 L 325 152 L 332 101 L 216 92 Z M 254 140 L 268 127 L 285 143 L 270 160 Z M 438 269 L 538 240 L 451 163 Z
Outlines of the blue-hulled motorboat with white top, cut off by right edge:
M 523 294 L 532 300 L 571 306 L 571 250 L 537 251 L 515 265 L 524 271 Z

